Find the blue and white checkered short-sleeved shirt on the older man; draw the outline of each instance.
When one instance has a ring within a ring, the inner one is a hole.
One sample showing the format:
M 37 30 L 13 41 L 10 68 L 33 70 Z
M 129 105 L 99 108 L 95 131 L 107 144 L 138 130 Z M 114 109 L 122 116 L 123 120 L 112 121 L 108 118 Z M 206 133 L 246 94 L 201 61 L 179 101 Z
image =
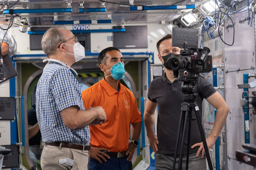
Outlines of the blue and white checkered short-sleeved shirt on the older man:
M 69 142 L 89 145 L 89 126 L 71 130 L 63 122 L 60 111 L 77 105 L 84 110 L 80 85 L 67 67 L 50 62 L 37 84 L 37 120 L 44 142 Z M 72 113 L 70 113 L 72 114 Z

